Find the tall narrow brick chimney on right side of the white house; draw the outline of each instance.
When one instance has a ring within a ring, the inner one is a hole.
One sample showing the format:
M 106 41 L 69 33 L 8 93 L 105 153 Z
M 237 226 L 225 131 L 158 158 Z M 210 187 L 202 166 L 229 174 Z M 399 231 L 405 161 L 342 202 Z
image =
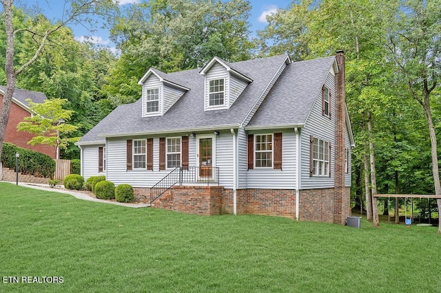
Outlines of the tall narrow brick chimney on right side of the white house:
M 350 188 L 345 188 L 345 134 L 346 134 L 346 95 L 345 95 L 345 52 L 336 52 L 338 73 L 336 74 L 336 142 L 334 163 L 334 223 L 345 224 L 350 215 Z

